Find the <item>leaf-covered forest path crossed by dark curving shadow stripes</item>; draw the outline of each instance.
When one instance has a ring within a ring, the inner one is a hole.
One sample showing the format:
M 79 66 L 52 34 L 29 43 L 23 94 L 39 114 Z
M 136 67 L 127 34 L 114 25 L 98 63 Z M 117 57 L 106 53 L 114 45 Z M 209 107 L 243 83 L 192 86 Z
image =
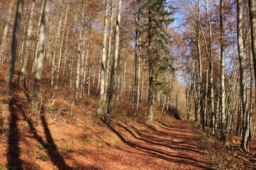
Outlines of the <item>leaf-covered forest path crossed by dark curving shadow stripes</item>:
M 115 124 L 112 132 L 126 143 L 100 157 L 103 169 L 213 169 L 205 153 L 199 151 L 191 124 L 173 120 L 152 130 L 149 124 Z M 151 132 L 149 132 L 151 129 Z

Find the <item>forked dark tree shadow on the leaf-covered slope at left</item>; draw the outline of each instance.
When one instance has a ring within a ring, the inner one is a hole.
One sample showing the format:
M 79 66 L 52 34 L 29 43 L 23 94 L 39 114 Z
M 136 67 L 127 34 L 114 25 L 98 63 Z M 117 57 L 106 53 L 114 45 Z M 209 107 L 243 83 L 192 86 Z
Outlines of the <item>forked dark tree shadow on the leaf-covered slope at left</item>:
M 58 148 L 55 145 L 53 137 L 50 134 L 50 130 L 48 128 L 48 123 L 46 121 L 43 106 L 41 108 L 40 118 L 41 118 L 41 123 L 43 125 L 43 130 L 46 135 L 46 142 L 43 141 L 43 137 L 38 135 L 38 132 L 36 132 L 36 128 L 33 127 L 33 123 L 31 122 L 31 120 L 29 118 L 26 117 L 26 114 L 24 112 L 23 112 L 23 118 L 27 119 L 29 128 L 30 128 L 31 132 L 33 133 L 33 137 L 46 149 L 48 157 L 50 157 L 50 161 L 53 162 L 53 164 L 55 166 L 57 166 L 58 169 L 67 169 L 67 170 L 73 169 L 72 167 L 65 164 L 65 160 L 58 152 Z

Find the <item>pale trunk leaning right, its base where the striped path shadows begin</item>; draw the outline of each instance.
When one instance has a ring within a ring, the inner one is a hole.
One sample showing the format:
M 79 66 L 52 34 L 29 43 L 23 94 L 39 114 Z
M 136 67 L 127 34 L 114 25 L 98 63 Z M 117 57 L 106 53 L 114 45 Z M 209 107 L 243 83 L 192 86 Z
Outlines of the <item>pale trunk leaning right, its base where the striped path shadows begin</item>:
M 118 0 L 117 25 L 116 25 L 115 42 L 114 42 L 114 58 L 113 58 L 112 72 L 111 72 L 111 79 L 110 79 L 110 96 L 109 96 L 109 101 L 107 103 L 107 114 L 105 115 L 105 120 L 104 120 L 105 123 L 110 122 L 110 114 L 112 112 L 112 107 L 114 103 L 114 89 L 116 86 L 118 50 L 119 50 L 119 28 L 120 28 L 120 21 L 121 21 L 121 8 L 122 8 L 122 0 Z

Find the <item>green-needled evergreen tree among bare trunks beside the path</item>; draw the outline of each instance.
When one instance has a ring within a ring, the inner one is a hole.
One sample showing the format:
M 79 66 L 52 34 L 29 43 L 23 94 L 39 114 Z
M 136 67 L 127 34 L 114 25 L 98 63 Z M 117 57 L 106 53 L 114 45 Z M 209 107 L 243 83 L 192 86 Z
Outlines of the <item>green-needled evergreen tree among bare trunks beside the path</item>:
M 148 117 L 153 121 L 155 88 L 164 85 L 161 75 L 171 70 L 171 34 L 169 25 L 174 21 L 171 16 L 174 8 L 165 0 L 147 0 L 144 3 L 144 17 L 147 18 L 145 25 L 147 32 L 147 52 L 149 64 L 149 98 Z

